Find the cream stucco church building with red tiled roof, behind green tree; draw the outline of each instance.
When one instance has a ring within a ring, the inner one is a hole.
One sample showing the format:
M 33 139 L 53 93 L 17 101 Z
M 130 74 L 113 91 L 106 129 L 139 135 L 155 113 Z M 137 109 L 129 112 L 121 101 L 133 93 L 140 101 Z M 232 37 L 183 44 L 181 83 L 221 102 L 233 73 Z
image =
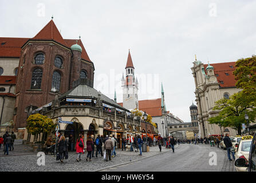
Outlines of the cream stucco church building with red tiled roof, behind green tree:
M 212 110 L 216 101 L 224 97 L 229 98 L 234 93 L 241 91 L 235 86 L 236 81 L 233 74 L 235 62 L 203 64 L 195 59 L 191 70 L 195 80 L 200 136 L 208 137 L 224 132 L 235 136 L 237 134 L 235 129 L 220 127 L 208 122 L 208 118 L 217 116 L 219 113 L 218 110 Z

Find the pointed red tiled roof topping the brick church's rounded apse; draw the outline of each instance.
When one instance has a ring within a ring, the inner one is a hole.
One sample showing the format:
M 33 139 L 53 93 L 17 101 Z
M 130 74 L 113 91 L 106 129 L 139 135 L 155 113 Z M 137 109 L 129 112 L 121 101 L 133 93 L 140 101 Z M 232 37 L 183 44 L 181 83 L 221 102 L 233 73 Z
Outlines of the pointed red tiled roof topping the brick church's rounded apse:
M 32 40 L 53 40 L 67 46 L 55 23 L 51 20 Z

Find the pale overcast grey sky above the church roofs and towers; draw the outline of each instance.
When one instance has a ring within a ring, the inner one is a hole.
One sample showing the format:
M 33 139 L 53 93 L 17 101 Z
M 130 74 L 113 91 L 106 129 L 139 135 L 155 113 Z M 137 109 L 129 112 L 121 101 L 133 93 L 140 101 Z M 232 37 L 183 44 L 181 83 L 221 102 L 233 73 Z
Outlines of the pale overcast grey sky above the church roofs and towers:
M 256 53 L 256 1 L 250 0 L 1 0 L 0 37 L 34 37 L 52 14 L 63 38 L 81 35 L 96 89 L 113 98 L 116 87 L 123 102 L 120 79 L 131 49 L 139 100 L 159 98 L 163 82 L 167 110 L 185 122 L 195 100 L 195 54 L 218 63 Z

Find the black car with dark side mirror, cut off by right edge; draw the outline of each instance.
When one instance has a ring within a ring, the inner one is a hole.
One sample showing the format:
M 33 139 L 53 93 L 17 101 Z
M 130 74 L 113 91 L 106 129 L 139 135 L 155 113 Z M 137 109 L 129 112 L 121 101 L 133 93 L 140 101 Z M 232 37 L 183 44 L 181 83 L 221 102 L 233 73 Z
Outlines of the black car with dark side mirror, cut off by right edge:
M 251 141 L 248 163 L 245 158 L 238 158 L 235 160 L 235 167 L 246 168 L 248 172 L 256 172 L 256 133 Z

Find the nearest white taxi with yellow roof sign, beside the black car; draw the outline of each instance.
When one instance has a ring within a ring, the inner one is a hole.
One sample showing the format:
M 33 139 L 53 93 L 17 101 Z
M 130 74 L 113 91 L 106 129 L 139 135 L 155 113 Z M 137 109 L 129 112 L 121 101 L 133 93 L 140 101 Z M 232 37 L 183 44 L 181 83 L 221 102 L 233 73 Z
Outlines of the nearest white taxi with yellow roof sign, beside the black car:
M 246 161 L 246 164 L 248 164 L 249 153 L 251 149 L 251 141 L 252 141 L 252 138 L 251 139 L 242 138 L 242 140 L 238 144 L 237 152 L 235 152 L 235 160 L 237 160 L 238 158 L 244 158 Z M 247 167 L 235 166 L 235 169 L 237 170 L 237 172 L 247 171 Z

